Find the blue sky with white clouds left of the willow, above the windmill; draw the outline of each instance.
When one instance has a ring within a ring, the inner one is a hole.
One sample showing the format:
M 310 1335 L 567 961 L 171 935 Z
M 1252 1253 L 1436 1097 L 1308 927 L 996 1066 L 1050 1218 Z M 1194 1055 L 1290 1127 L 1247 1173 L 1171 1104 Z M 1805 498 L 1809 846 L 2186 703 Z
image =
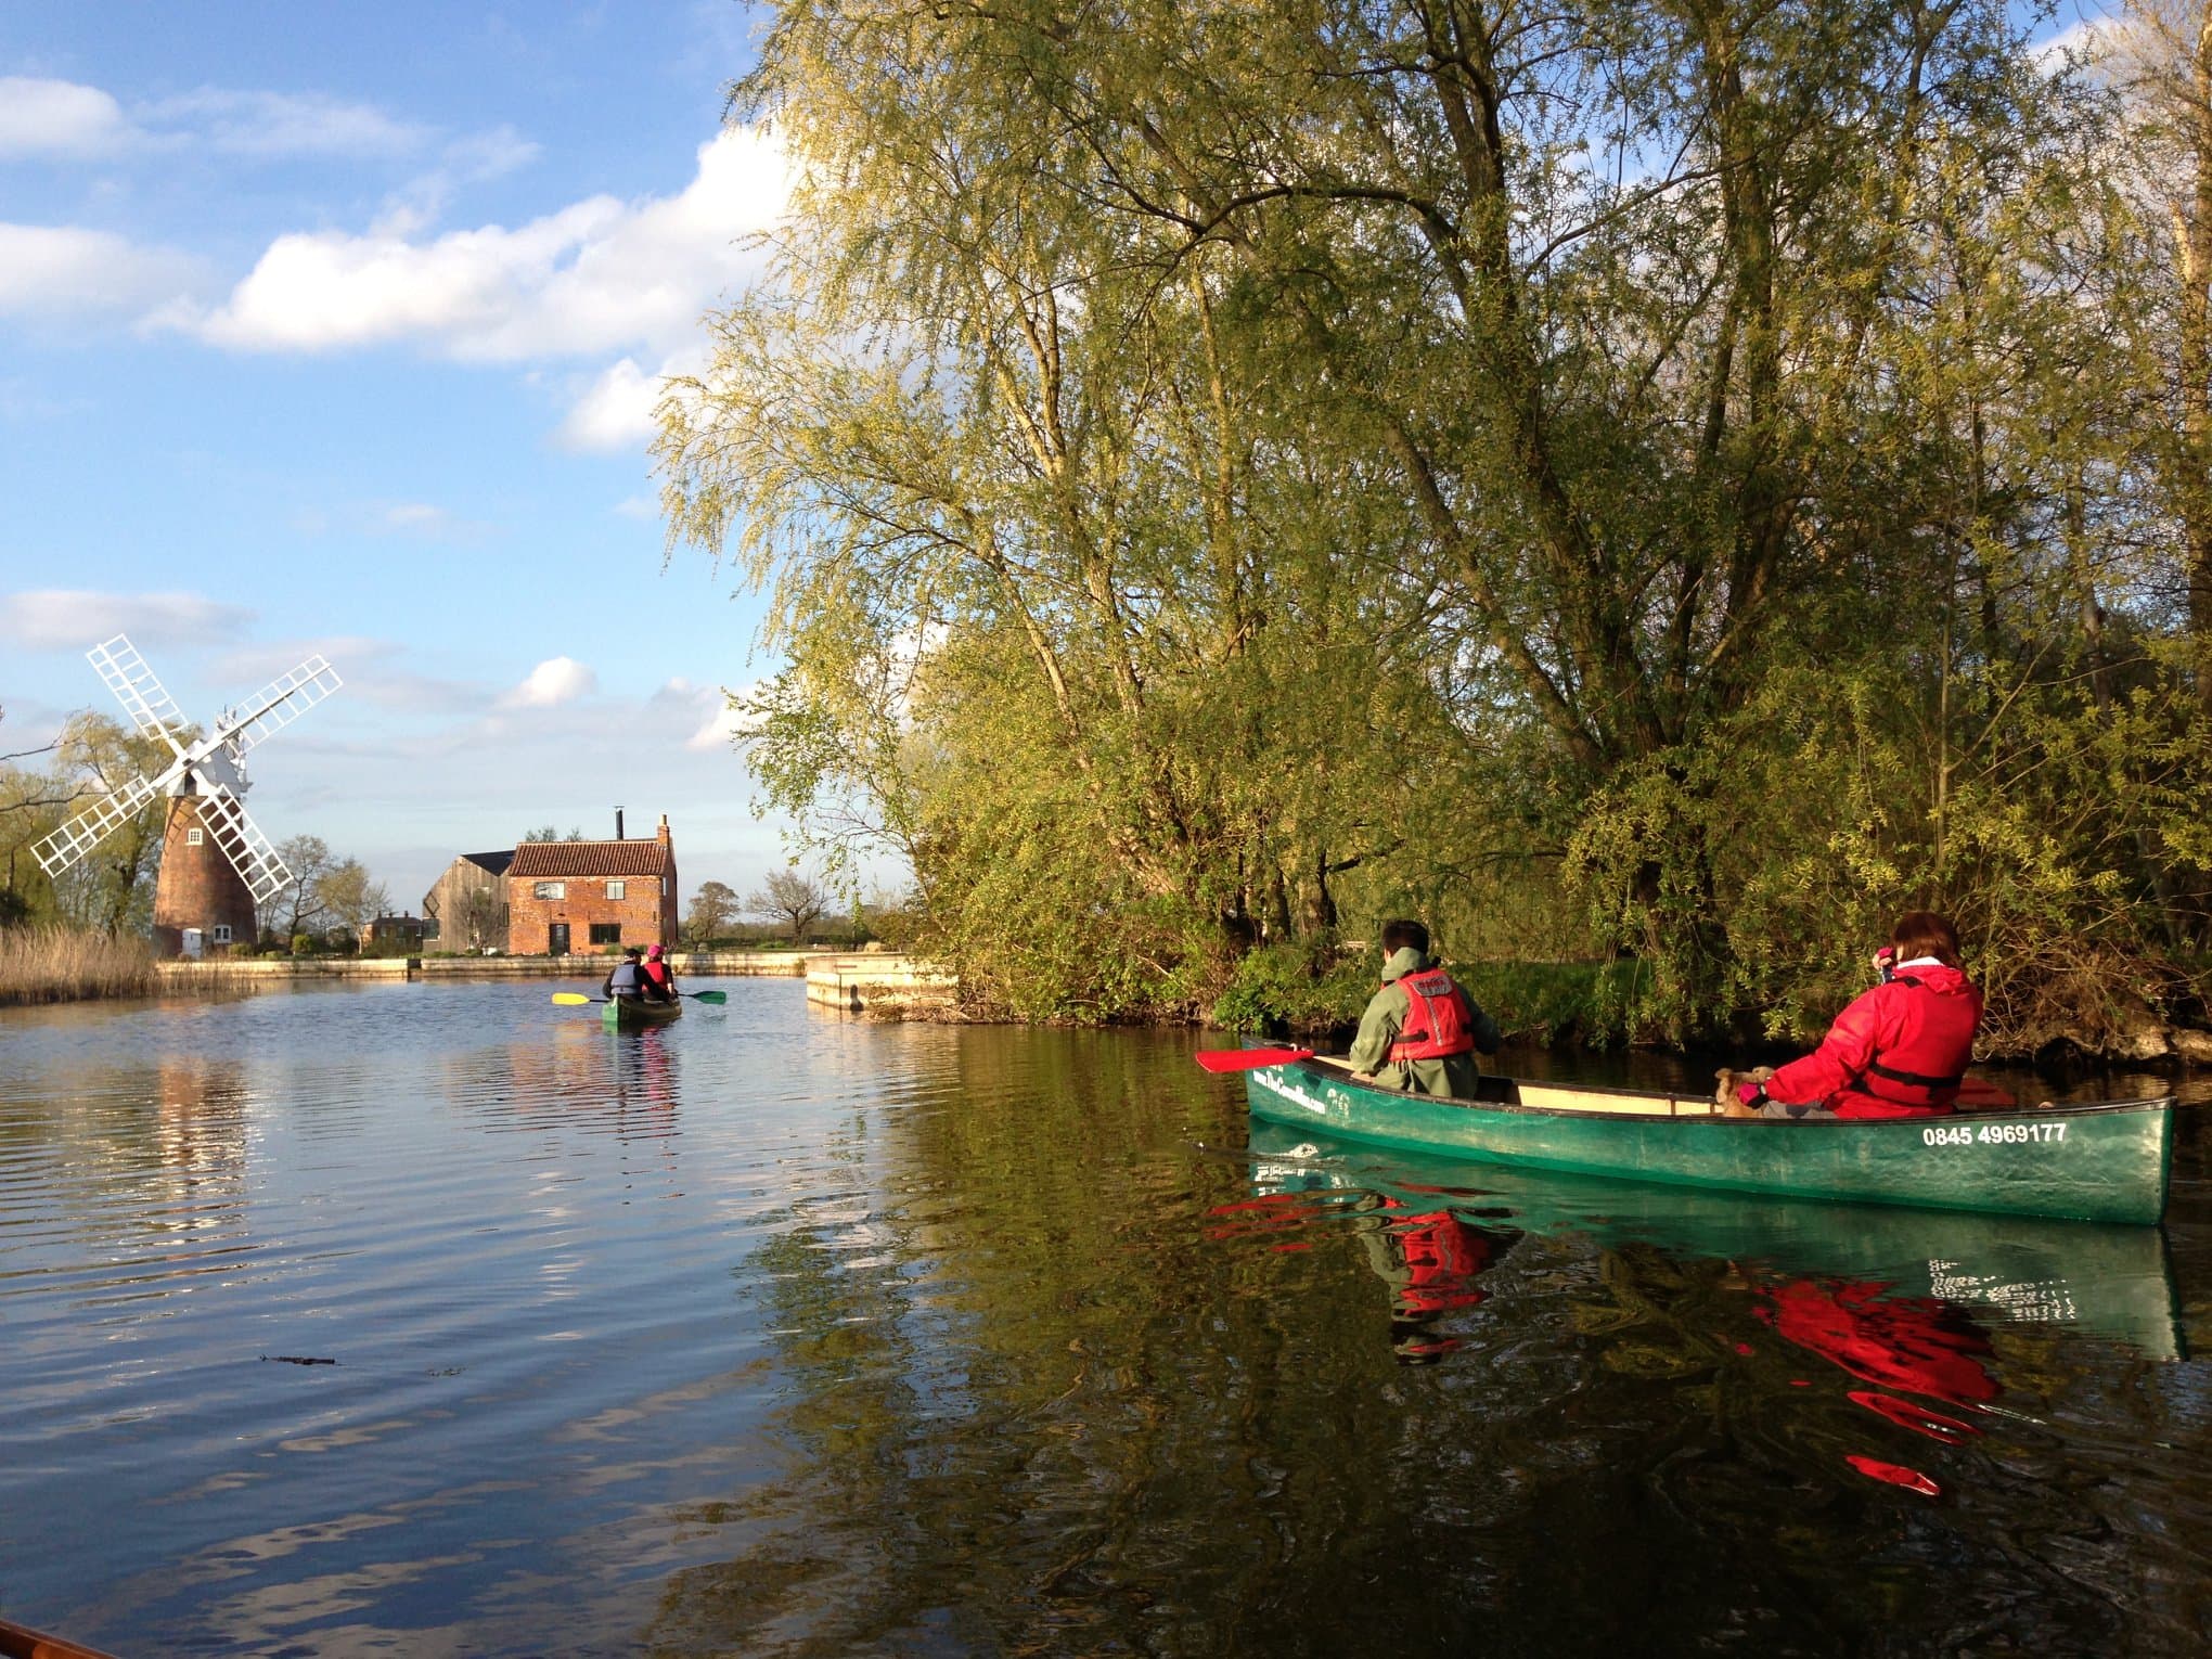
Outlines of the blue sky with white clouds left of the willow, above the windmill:
M 312 650 L 345 690 L 254 818 L 400 905 L 524 830 L 675 825 L 686 891 L 783 863 L 719 688 L 759 599 L 664 564 L 646 416 L 781 201 L 721 126 L 750 13 L 0 9 L 0 752 L 188 717 Z

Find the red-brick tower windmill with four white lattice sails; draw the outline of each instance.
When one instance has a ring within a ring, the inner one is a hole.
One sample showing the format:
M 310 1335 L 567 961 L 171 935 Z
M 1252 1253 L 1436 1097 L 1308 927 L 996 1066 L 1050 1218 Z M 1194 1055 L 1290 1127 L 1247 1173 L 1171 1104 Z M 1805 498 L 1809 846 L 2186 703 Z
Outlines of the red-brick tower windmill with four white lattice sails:
M 190 726 L 146 659 L 124 635 L 84 653 L 142 737 L 159 737 L 175 759 L 86 807 L 31 852 L 49 876 L 82 860 L 157 794 L 170 796 L 161 872 L 153 889 L 155 956 L 254 938 L 254 909 L 292 883 L 261 827 L 246 816 L 246 752 L 259 748 L 343 684 L 321 655 L 226 708 L 208 737 Z M 190 936 L 190 938 L 188 938 Z

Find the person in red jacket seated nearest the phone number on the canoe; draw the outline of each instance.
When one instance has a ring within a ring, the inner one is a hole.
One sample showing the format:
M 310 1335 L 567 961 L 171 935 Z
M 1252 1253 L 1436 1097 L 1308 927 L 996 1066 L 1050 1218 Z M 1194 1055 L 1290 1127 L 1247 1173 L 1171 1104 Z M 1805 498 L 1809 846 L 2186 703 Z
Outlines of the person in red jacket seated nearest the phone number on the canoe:
M 1836 1015 L 1820 1046 L 1763 1084 L 1736 1088 L 1739 1117 L 1940 1117 L 1958 1099 L 1982 993 L 1958 960 L 1958 929 L 1916 909 L 1876 951 L 1880 984 Z

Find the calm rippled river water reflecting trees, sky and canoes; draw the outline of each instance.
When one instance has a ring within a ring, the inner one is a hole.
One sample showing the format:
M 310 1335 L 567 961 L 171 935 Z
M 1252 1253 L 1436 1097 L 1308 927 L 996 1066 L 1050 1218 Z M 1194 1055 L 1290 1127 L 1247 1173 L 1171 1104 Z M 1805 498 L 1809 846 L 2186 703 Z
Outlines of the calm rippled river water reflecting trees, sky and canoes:
M 734 980 L 611 1035 L 549 989 L 0 1011 L 0 1613 L 122 1655 L 2203 1650 L 2201 1106 L 2163 1230 L 2042 1225 L 1298 1139 L 1188 1033 Z

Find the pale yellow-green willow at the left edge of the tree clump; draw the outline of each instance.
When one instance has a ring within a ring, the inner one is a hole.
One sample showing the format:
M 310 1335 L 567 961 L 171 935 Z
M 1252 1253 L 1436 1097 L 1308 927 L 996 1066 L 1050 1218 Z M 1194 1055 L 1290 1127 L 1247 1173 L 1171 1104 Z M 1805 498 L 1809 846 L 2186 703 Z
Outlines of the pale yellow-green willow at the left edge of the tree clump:
M 1438 584 L 1367 460 L 1267 400 L 1230 261 L 1128 263 L 1082 137 L 973 97 L 989 31 L 885 15 L 858 73 L 790 24 L 741 88 L 801 164 L 776 279 L 659 449 L 677 533 L 774 584 L 754 765 L 832 869 L 905 854 L 1009 1004 L 1201 1002 L 1402 838 L 1400 743 L 1486 743 L 1420 695 Z

